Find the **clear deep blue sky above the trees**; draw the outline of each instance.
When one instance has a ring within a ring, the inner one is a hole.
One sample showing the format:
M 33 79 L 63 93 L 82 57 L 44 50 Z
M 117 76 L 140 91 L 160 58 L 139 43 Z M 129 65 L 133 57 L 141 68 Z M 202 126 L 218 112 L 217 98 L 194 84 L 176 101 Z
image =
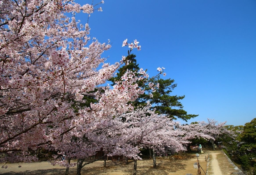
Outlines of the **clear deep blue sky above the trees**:
M 236 126 L 256 118 L 255 0 L 105 0 L 100 6 L 89 26 L 99 42 L 110 39 L 107 62 L 127 55 L 123 40 L 137 39 L 141 51 L 132 53 L 139 66 L 151 77 L 165 67 L 166 78 L 177 83 L 172 95 L 185 95 L 184 110 L 199 114 L 188 123 L 210 118 Z M 84 13 L 76 18 L 87 21 Z

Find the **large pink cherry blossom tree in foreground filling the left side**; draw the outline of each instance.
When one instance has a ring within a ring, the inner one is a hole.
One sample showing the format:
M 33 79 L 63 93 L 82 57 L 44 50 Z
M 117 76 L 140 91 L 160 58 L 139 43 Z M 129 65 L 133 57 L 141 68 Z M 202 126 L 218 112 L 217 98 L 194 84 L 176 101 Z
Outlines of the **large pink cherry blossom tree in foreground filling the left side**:
M 128 60 L 104 63 L 100 55 L 109 42 L 91 40 L 89 25 L 76 21 L 75 13 L 91 14 L 94 8 L 70 0 L 0 1 L 2 162 L 35 161 L 31 153 L 38 149 L 63 148 L 68 139 L 81 138 L 94 118 L 131 110 L 127 101 L 143 93 L 133 84 L 147 77 L 143 71 L 139 77 L 127 72 L 111 89 L 100 87 Z M 129 47 L 140 50 L 136 43 Z M 81 108 L 84 96 L 98 102 Z

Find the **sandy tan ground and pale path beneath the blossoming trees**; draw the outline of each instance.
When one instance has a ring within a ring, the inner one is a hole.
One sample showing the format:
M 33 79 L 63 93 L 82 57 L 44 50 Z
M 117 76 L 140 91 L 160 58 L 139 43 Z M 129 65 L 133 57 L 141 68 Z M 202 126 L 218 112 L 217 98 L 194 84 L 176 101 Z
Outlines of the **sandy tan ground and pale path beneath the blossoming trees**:
M 201 174 L 206 174 L 208 156 L 208 165 L 211 167 L 209 175 L 226 175 L 221 172 L 217 155 L 222 154 L 220 151 L 204 151 L 200 153 L 198 161 L 200 164 Z M 173 157 L 172 159 L 157 159 L 157 168 L 153 168 L 153 161 L 143 159 L 137 161 L 137 174 L 138 175 L 186 175 L 191 173 L 198 174 L 198 168 L 194 168 L 197 162 L 196 152 L 191 154 L 191 158 Z M 96 161 L 92 164 L 85 165 L 81 171 L 86 175 L 132 175 L 133 173 L 133 160 L 129 160 L 127 165 L 122 165 L 119 161 L 107 161 L 107 168 L 103 167 L 103 161 Z M 3 166 L 4 164 L 0 164 Z M 7 169 L 0 168 L 0 174 L 3 175 L 55 175 L 65 174 L 66 168 L 59 165 L 52 166 L 47 161 L 35 163 L 19 163 L 19 164 L 6 164 Z M 21 166 L 21 167 L 19 167 Z M 69 169 L 69 175 L 76 174 L 76 167 Z

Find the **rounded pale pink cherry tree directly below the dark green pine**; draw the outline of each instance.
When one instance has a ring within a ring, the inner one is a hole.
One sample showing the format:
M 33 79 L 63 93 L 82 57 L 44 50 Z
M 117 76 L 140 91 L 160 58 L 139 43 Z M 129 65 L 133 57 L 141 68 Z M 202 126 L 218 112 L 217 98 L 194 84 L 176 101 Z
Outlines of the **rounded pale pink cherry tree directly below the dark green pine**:
M 150 106 L 116 116 L 115 120 L 121 122 L 116 126 L 122 128 L 113 130 L 114 133 L 109 137 L 108 142 L 112 141 L 111 144 L 114 145 L 109 155 L 133 157 L 134 175 L 137 172 L 137 160 L 141 159 L 140 149 L 150 148 L 159 153 L 165 152 L 166 147 L 173 152 L 184 150 L 178 138 L 180 131 L 174 130 L 174 125 L 178 123 L 173 122 L 166 115 L 156 114 L 155 111 L 150 110 Z

